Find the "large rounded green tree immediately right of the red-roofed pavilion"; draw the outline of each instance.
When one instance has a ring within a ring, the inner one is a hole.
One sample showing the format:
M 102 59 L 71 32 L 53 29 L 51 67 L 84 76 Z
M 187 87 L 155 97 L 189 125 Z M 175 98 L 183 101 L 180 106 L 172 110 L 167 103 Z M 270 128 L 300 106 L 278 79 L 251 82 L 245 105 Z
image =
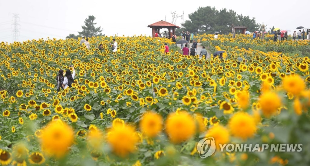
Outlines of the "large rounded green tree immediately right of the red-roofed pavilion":
M 217 14 L 218 11 L 214 7 L 199 7 L 197 11 L 188 15 L 190 20 L 186 20 L 183 26 L 193 33 L 214 33 Z

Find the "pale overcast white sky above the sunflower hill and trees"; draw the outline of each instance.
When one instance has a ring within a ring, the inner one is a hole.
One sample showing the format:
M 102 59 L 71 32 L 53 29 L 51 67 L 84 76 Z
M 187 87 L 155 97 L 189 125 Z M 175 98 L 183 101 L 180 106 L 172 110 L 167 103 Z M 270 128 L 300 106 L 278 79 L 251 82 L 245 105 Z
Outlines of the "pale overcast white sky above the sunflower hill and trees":
M 184 20 L 188 20 L 188 14 L 206 6 L 217 10 L 232 9 L 237 14 L 255 17 L 257 23 L 267 25 L 266 30 L 274 26 L 294 32 L 298 26 L 310 28 L 307 3 L 291 0 L 282 0 L 281 3 L 270 0 L 0 0 L 0 41 L 13 41 L 13 13 L 19 14 L 20 18 L 18 39 L 25 41 L 78 34 L 89 15 L 96 17 L 97 26 L 101 26 L 103 34 L 108 36 L 149 36 L 152 30 L 147 26 L 160 20 L 171 22 L 171 12 L 182 15 L 184 11 Z M 181 18 L 177 19 L 176 25 L 181 26 Z

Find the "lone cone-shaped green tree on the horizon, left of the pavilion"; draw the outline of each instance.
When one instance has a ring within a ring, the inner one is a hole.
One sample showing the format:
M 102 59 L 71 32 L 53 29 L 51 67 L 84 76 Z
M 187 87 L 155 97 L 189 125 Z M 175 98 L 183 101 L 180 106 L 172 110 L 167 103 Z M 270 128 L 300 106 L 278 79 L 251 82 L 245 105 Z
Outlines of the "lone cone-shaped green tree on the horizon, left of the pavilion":
M 78 32 L 79 35 L 85 36 L 85 37 L 91 37 L 91 36 L 102 36 L 101 32 L 102 29 L 101 27 L 95 28 L 95 25 L 97 23 L 94 23 L 95 16 L 88 16 L 88 18 L 85 19 L 84 23 L 85 26 L 82 26 L 82 32 Z

